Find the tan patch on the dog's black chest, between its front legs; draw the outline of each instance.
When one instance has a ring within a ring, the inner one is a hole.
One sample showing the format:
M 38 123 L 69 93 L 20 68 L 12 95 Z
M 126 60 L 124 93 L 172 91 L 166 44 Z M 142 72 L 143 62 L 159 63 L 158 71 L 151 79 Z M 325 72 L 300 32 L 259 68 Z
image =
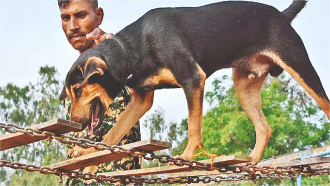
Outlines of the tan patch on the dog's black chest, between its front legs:
M 161 83 L 181 86 L 175 79 L 172 71 L 168 68 L 162 68 L 156 75 L 148 77 L 145 80 L 144 85 L 159 85 Z

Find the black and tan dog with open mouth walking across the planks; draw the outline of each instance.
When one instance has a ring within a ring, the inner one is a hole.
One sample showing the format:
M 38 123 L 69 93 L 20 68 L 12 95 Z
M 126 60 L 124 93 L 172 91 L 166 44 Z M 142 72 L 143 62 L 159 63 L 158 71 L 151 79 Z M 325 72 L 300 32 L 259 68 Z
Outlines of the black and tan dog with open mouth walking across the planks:
M 305 3 L 294 1 L 283 12 L 242 1 L 150 10 L 114 38 L 83 52 L 66 76 L 60 100 L 70 97 L 71 120 L 93 130 L 126 85 L 132 99 L 102 141 L 115 145 L 150 109 L 154 90 L 181 87 L 189 110 L 189 141 L 181 157 L 191 160 L 202 145 L 205 79 L 233 68 L 239 101 L 256 129 L 250 154 L 255 164 L 272 135 L 260 97 L 268 73 L 278 76 L 285 69 L 329 118 L 329 99 L 290 24 Z

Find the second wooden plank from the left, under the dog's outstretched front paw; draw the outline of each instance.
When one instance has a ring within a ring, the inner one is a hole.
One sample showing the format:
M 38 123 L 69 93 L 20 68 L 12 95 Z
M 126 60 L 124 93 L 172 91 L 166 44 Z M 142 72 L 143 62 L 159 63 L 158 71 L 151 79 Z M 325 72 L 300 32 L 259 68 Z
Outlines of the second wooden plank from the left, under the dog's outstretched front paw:
M 164 141 L 148 139 L 144 141 L 138 141 L 135 143 L 122 145 L 121 147 L 125 149 L 134 148 L 141 151 L 159 151 L 159 150 L 171 148 L 172 144 Z M 104 151 L 93 152 L 76 158 L 68 159 L 66 161 L 49 165 L 47 167 L 52 169 L 59 169 L 59 170 L 75 170 L 92 165 L 98 165 L 100 163 L 104 163 L 108 161 L 122 159 L 125 157 L 128 157 L 127 153 L 111 152 L 110 150 L 104 150 Z

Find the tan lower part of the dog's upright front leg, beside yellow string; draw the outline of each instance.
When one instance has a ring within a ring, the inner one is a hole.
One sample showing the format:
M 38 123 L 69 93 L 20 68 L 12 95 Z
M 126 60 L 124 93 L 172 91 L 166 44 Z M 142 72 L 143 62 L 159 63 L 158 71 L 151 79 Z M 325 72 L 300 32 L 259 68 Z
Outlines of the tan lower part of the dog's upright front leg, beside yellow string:
M 203 118 L 203 97 L 206 74 L 196 64 L 200 75 L 200 84 L 197 89 L 192 91 L 193 98 L 187 100 L 188 103 L 188 144 L 181 157 L 192 160 L 198 150 L 202 147 L 202 118 Z

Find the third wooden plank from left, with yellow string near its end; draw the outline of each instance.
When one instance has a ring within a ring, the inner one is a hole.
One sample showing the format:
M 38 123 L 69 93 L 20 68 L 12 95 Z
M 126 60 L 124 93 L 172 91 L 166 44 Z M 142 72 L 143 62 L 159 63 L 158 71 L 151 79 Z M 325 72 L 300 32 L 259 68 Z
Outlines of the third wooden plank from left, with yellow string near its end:
M 224 157 L 214 158 L 213 163 L 215 165 L 233 165 L 238 163 L 250 162 L 251 157 L 240 156 L 240 155 L 229 155 Z M 210 160 L 201 160 L 201 163 L 210 163 Z M 106 176 L 142 176 L 150 174 L 164 174 L 164 173 L 173 173 L 173 172 L 182 172 L 182 171 L 191 171 L 193 169 L 189 166 L 164 166 L 164 167 L 155 167 L 155 168 L 146 168 L 146 169 L 135 169 L 135 170 L 122 170 L 116 172 L 106 172 L 99 173 Z M 196 170 L 196 169 L 195 169 Z

